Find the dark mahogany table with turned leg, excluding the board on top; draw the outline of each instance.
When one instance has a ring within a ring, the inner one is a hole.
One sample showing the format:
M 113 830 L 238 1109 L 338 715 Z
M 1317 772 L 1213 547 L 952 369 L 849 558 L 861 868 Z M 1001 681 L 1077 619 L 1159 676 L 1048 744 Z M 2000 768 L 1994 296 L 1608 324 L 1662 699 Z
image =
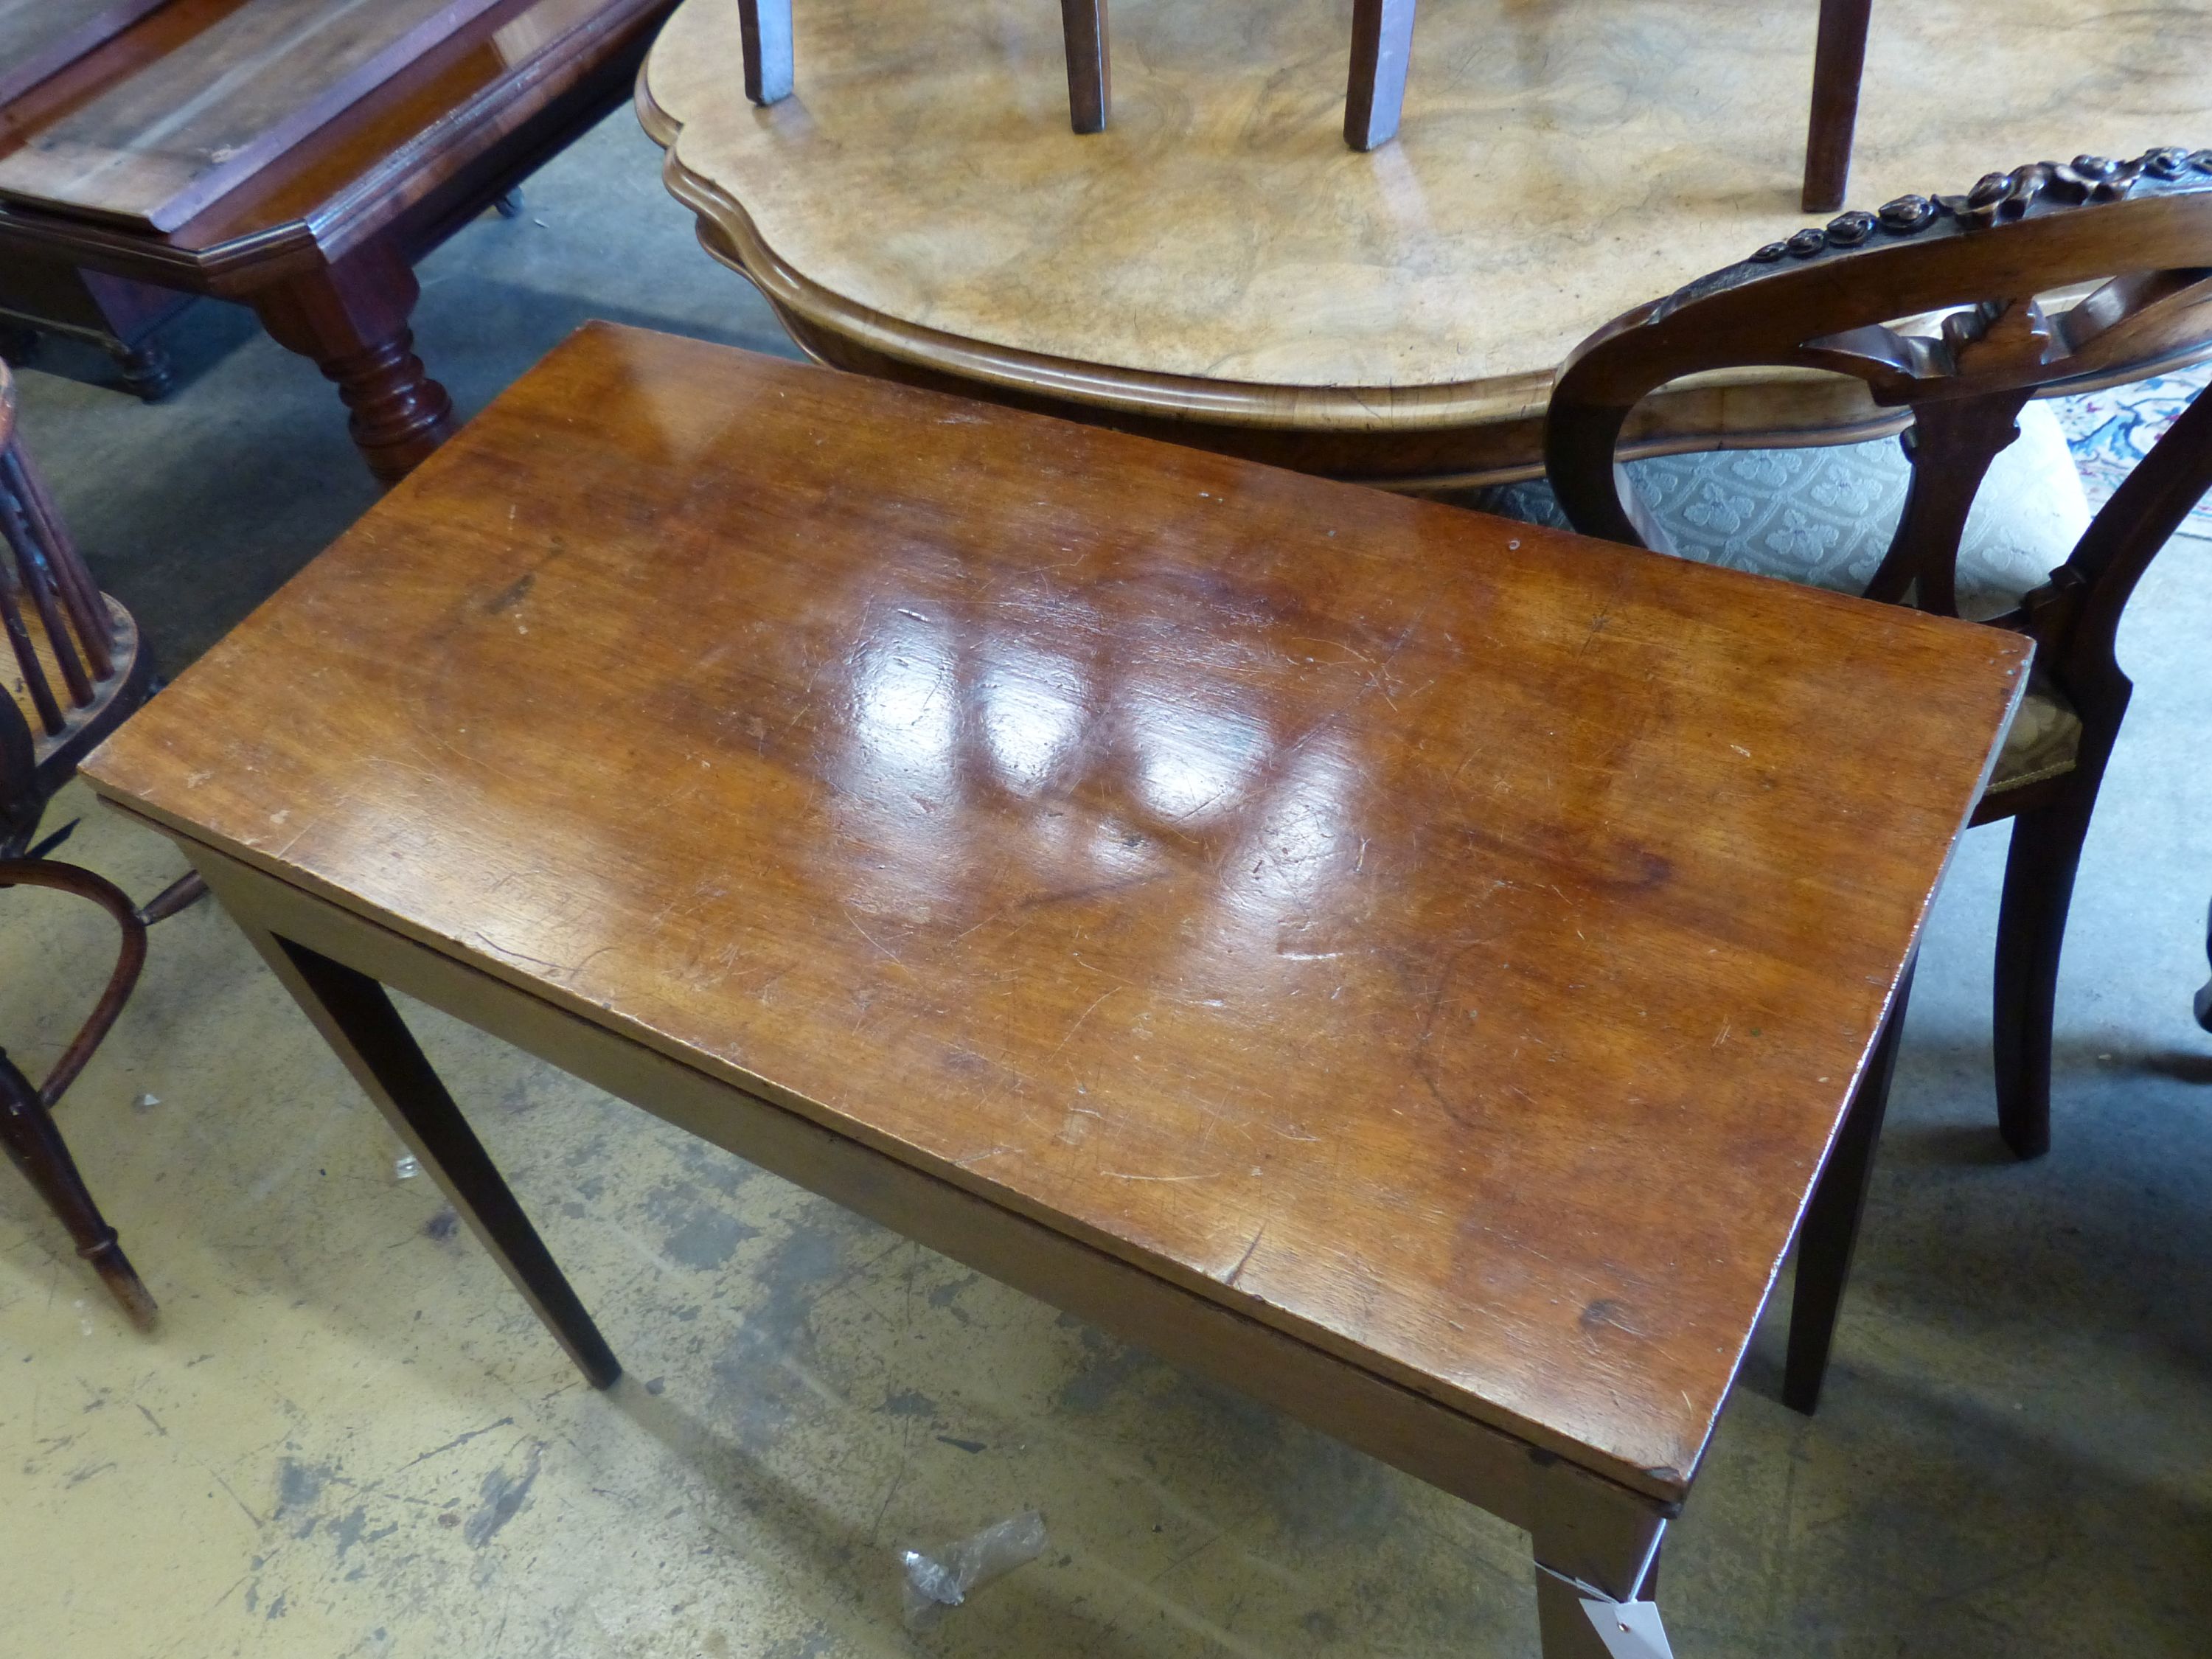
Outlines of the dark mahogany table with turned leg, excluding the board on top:
M 86 274 L 241 301 L 338 387 L 369 469 L 398 478 L 451 427 L 409 338 L 411 265 L 628 97 L 672 2 L 473 7 L 465 27 L 422 35 L 405 69 L 170 230 L 58 199 L 0 204 L 0 312 L 49 319 L 40 294 Z M 100 88 L 159 75 L 228 11 L 170 0 L 115 35 L 0 111 L 11 133 L 0 157 L 66 124 Z M 142 378 L 157 367 L 139 365 Z

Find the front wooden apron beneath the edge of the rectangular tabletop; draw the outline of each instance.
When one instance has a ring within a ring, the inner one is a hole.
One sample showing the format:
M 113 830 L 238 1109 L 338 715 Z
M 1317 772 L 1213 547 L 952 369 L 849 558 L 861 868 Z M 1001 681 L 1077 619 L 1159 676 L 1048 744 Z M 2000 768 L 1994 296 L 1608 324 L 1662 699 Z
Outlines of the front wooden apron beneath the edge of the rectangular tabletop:
M 166 825 L 142 823 L 175 838 L 223 909 L 243 925 L 367 973 L 964 1267 L 1486 1509 L 1526 1528 L 1546 1566 L 1606 1595 L 1630 1599 L 1637 1593 L 1666 1522 L 1679 1511 L 1679 1504 L 1635 1493 L 1002 1210 Z

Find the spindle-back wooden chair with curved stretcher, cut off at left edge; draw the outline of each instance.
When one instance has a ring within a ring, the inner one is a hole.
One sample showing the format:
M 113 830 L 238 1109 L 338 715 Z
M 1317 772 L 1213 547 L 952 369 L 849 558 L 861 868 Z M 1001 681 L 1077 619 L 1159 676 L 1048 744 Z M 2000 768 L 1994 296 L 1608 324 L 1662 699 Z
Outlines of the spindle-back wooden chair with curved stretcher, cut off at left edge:
M 0 367 L 0 626 L 11 646 L 0 697 L 0 887 L 51 887 L 100 905 L 122 929 L 106 991 L 42 1084 L 0 1051 L 0 1146 L 69 1228 L 133 1323 L 153 1323 L 155 1303 L 53 1126 L 62 1091 L 93 1057 L 122 1013 L 146 962 L 146 927 L 190 905 L 204 889 L 186 876 L 144 909 L 113 883 L 75 865 L 24 856 L 46 801 L 131 710 L 146 701 L 150 668 L 131 613 L 93 584 L 31 458 L 15 436 L 15 385 Z

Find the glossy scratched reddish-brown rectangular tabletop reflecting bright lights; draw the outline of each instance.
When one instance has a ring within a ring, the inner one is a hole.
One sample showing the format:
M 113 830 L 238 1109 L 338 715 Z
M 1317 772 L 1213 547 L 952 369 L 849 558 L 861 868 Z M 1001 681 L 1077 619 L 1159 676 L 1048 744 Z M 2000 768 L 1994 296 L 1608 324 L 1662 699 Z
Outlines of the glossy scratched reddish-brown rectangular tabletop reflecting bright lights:
M 591 325 L 84 770 L 1679 1498 L 2026 657 Z

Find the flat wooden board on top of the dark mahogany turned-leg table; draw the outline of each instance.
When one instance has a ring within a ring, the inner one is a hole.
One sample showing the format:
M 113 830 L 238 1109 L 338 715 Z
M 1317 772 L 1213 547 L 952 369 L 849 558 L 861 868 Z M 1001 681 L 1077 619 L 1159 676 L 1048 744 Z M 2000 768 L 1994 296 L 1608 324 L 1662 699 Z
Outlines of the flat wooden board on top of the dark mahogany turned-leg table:
M 507 0 L 243 0 L 0 155 L 0 195 L 175 230 Z

